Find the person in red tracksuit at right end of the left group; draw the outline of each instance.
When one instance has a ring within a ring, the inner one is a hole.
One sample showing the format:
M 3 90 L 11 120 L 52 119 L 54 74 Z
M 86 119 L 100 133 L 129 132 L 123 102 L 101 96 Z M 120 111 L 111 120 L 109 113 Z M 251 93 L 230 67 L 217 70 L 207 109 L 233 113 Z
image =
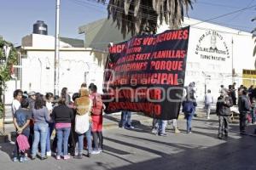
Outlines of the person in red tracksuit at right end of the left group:
M 102 110 L 103 110 L 103 103 L 101 94 L 97 94 L 97 87 L 93 85 L 90 87 L 90 99 L 91 99 L 91 122 L 92 122 L 92 137 L 94 141 L 94 150 L 91 154 L 99 154 L 102 152 L 103 146 L 103 135 L 102 135 Z M 98 142 L 99 140 L 99 142 Z

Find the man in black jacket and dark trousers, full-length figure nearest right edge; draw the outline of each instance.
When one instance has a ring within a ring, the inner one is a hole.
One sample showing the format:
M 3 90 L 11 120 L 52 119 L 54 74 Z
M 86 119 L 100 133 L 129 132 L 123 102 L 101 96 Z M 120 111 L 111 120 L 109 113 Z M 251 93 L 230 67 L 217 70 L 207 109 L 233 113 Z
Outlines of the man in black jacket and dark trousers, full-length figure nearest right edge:
M 243 90 L 240 98 L 238 99 L 238 110 L 240 119 L 240 133 L 246 133 L 245 127 L 247 122 L 247 113 L 251 111 L 251 102 L 247 97 L 247 90 Z

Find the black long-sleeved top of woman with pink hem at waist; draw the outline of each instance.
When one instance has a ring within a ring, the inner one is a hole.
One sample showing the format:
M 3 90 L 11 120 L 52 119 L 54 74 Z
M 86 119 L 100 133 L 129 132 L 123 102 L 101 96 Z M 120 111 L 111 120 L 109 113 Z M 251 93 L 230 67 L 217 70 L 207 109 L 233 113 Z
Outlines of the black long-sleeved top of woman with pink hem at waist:
M 52 119 L 54 122 L 71 122 L 73 119 L 73 111 L 67 105 L 57 105 L 52 111 Z

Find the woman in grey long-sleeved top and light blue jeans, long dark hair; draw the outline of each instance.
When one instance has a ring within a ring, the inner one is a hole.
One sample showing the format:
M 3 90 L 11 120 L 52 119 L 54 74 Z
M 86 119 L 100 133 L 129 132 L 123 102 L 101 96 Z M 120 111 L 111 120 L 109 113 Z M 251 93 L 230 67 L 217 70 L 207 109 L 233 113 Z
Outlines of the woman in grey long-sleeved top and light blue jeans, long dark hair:
M 32 117 L 35 122 L 32 160 L 36 158 L 39 141 L 41 144 L 41 160 L 44 160 L 47 158 L 47 156 L 45 156 L 45 148 L 50 117 L 48 109 L 44 106 L 44 98 L 39 93 L 36 94 L 35 106 L 32 108 Z

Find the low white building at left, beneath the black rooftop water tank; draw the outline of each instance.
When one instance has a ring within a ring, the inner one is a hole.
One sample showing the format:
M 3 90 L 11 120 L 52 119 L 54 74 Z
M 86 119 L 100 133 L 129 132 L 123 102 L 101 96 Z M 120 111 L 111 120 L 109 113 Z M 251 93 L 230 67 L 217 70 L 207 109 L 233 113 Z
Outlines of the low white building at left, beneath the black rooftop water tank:
M 60 81 L 61 88 L 67 87 L 70 94 L 79 91 L 82 82 L 94 82 L 102 91 L 103 59 L 105 53 L 84 48 L 84 41 L 60 38 Z M 16 88 L 36 91 L 41 94 L 54 92 L 55 37 L 30 34 L 22 38 L 20 69 L 16 78 L 9 81 L 5 92 L 5 103 L 10 104 Z

